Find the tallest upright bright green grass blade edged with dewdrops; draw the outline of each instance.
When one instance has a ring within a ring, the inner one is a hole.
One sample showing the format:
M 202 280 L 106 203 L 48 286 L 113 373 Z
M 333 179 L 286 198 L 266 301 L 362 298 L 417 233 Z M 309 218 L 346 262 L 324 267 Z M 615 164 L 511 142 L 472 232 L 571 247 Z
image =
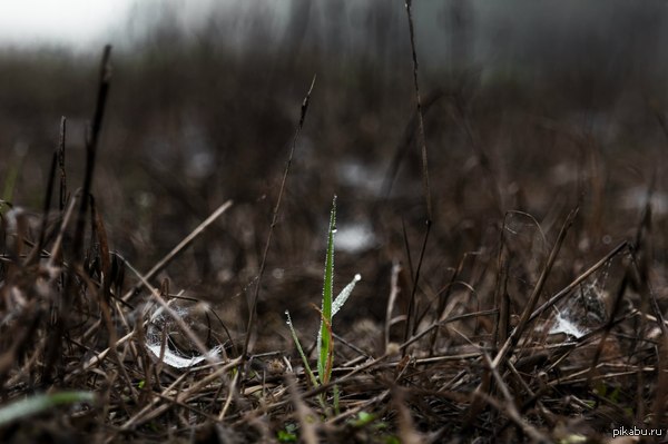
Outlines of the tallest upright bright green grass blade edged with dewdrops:
M 327 362 L 332 355 L 332 341 L 325 325 L 326 320 L 332 324 L 332 294 L 334 288 L 334 234 L 336 233 L 336 196 L 332 200 L 332 213 L 330 214 L 330 229 L 327 230 L 327 254 L 325 256 L 325 278 L 323 283 L 323 306 L 321 327 L 317 336 L 317 372 L 320 381 L 328 379 L 326 374 Z

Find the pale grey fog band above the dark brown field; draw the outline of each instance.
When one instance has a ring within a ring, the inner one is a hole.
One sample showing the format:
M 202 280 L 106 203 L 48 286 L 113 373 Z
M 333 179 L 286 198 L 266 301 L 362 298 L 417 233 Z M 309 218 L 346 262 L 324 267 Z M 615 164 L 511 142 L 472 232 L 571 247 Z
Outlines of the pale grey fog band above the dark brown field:
M 574 63 L 662 72 L 665 66 L 668 13 L 660 1 L 422 0 L 414 11 L 426 68 L 540 72 Z M 0 47 L 98 51 L 110 42 L 132 51 L 157 30 L 238 51 L 311 47 L 387 63 L 403 57 L 407 38 L 402 1 L 29 0 L 0 7 Z

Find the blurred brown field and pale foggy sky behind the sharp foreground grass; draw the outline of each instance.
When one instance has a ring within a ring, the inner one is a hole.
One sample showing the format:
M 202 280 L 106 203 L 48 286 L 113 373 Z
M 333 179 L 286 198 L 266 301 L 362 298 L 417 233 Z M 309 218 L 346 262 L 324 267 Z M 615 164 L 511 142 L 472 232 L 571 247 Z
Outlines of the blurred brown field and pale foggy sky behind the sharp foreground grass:
M 315 75 L 261 314 L 268 328 L 283 323 L 285 308 L 316 319 L 304 298 L 320 295 L 337 194 L 337 287 L 362 273 L 355 318 L 383 318 L 391 264 L 416 260 L 425 218 L 402 1 L 14 3 L 0 6 L 2 198 L 41 208 L 61 116 L 69 189 L 80 186 L 99 57 L 111 43 L 94 190 L 112 246 L 147 270 L 234 199 L 165 275 L 243 312 Z M 656 229 L 668 233 L 667 8 L 658 0 L 414 1 L 434 203 L 428 299 L 469 253 L 475 259 L 461 279 L 485 282 L 510 209 L 531 214 L 549 237 L 582 204 L 572 273 L 635 231 L 652 178 Z M 518 243 L 536 236 L 525 219 L 513 224 L 524 236 Z M 665 264 L 665 239 L 654 245 Z M 548 247 L 527 251 L 542 257 Z M 519 288 L 528 288 L 531 277 L 520 274 Z

